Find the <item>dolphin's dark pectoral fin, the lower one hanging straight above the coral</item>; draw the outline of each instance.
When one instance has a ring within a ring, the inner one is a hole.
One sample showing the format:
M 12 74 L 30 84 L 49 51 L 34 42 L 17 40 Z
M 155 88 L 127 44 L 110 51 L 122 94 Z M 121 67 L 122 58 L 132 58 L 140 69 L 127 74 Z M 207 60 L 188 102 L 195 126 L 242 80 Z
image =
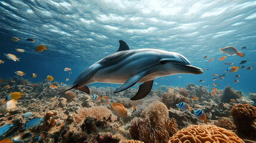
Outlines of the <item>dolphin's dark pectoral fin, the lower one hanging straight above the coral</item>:
M 140 88 L 138 88 L 137 94 L 134 97 L 132 97 L 131 100 L 140 100 L 146 97 L 152 89 L 153 81 L 154 80 L 150 80 L 141 84 Z

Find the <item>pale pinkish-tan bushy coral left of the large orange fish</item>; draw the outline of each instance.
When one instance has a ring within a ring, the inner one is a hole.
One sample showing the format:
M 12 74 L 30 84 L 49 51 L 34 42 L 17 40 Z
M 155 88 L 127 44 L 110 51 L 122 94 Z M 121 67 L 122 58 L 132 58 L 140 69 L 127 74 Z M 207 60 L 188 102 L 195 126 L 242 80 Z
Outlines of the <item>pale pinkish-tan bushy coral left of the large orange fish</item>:
M 103 120 L 104 117 L 107 119 L 111 113 L 112 111 L 101 105 L 90 108 L 79 108 L 77 114 L 73 114 L 73 118 L 76 123 L 80 123 L 88 116 Z

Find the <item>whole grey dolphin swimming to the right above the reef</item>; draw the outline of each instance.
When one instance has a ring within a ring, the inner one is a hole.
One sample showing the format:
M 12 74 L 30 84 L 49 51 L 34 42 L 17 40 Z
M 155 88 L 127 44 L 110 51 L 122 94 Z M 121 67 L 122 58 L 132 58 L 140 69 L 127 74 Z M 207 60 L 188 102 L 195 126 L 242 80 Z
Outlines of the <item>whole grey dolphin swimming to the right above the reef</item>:
M 114 54 L 108 55 L 83 71 L 70 89 L 78 89 L 90 94 L 88 84 L 94 82 L 124 83 L 116 92 L 124 91 L 136 83 L 140 85 L 137 94 L 131 100 L 140 100 L 149 94 L 153 80 L 161 76 L 190 73 L 202 74 L 199 67 L 190 65 L 189 60 L 177 52 L 161 49 L 129 49 L 125 41 Z

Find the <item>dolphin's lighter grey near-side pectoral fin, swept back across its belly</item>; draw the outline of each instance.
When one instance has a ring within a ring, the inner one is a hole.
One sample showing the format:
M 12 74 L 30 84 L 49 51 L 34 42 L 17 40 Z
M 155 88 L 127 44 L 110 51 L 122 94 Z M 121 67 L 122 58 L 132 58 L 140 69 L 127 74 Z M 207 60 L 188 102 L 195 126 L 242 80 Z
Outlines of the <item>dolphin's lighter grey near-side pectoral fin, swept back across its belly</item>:
M 120 88 L 118 88 L 114 93 L 124 91 L 125 89 L 131 88 L 131 86 L 134 86 L 140 79 L 142 79 L 144 76 L 146 76 L 146 72 L 140 74 L 135 74 L 132 77 L 129 77 L 127 81 L 122 85 Z

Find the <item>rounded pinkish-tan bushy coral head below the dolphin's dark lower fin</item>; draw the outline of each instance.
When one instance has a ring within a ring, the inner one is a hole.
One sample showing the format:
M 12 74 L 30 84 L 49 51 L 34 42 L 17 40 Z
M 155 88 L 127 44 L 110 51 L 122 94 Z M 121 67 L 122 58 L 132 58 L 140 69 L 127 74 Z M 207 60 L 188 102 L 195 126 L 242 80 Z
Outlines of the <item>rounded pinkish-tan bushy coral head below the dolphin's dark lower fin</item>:
M 150 122 L 164 123 L 164 120 L 169 117 L 168 108 L 164 103 L 155 101 L 142 111 L 141 117 L 149 118 Z

